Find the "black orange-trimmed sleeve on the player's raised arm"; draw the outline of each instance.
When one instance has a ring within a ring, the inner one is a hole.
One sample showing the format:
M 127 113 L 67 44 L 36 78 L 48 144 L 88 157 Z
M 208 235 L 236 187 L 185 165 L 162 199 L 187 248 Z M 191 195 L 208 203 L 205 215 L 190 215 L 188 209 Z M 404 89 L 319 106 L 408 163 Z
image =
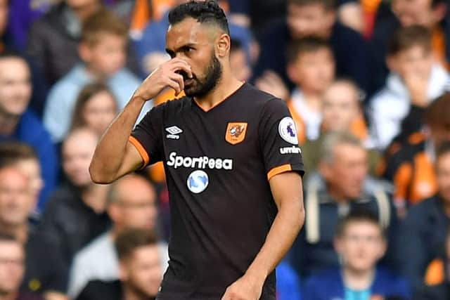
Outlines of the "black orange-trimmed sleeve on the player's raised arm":
M 153 107 L 131 132 L 129 141 L 139 151 L 143 166 L 162 160 L 162 113 L 163 105 Z

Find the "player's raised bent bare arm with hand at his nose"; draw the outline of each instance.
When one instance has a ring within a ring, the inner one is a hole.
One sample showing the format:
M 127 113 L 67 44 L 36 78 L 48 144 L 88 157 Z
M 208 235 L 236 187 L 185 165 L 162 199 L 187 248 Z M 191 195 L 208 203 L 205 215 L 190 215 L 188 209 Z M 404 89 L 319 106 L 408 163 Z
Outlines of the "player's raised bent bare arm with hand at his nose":
M 184 79 L 176 72 L 183 70 L 192 76 L 191 67 L 179 58 L 163 63 L 150 74 L 134 92 L 127 106 L 115 118 L 98 142 L 89 173 L 95 183 L 111 183 L 143 164 L 138 150 L 129 142 L 129 136 L 146 100 L 154 98 L 167 86 L 181 93 Z

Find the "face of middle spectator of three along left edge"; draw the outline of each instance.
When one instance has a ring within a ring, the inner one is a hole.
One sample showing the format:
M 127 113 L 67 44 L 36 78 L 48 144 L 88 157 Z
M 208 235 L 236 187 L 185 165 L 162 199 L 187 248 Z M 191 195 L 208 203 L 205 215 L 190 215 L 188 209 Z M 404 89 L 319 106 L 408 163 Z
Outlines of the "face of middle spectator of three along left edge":
M 30 182 L 18 169 L 0 171 L 0 223 L 21 226 L 27 223 L 34 206 Z

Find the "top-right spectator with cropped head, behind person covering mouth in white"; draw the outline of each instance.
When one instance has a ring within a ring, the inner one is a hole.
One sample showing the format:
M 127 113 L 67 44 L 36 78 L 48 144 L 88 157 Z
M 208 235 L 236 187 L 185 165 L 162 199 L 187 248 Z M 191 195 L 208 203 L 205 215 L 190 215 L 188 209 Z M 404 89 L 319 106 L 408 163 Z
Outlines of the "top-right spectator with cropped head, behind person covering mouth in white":
M 395 0 L 389 1 L 392 11 L 383 14 L 384 18 L 378 18 L 375 22 L 373 37 L 371 38 L 371 51 L 373 75 L 373 88 L 383 86 L 389 70 L 387 69 L 385 56 L 389 44 L 389 38 L 399 27 L 422 25 L 432 32 L 432 53 L 435 60 L 449 67 L 450 47 L 449 30 L 450 22 L 444 19 L 448 13 L 449 4 L 446 0 Z M 383 9 L 383 6 L 380 7 Z

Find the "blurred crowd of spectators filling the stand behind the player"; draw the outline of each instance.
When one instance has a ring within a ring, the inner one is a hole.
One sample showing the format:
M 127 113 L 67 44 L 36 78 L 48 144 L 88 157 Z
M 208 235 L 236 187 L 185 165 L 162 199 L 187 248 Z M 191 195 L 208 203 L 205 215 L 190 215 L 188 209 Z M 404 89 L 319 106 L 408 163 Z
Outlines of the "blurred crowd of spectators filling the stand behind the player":
M 167 13 L 183 2 L 0 0 L 0 300 L 155 299 L 162 164 L 112 185 L 88 169 L 169 60 Z M 278 300 L 450 299 L 450 3 L 219 4 L 235 76 L 285 100 L 307 171 Z

